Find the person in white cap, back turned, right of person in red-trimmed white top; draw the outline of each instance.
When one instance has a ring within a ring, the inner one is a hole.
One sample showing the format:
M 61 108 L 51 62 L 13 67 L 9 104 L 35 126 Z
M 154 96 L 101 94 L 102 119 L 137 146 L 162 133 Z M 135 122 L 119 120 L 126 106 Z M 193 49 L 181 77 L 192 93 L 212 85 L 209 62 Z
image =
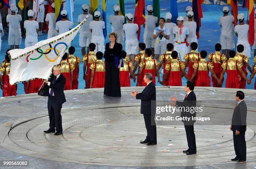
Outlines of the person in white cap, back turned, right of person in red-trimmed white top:
M 187 12 L 187 17 L 189 18 L 189 20 L 184 22 L 183 25 L 189 28 L 189 36 L 187 37 L 187 42 L 189 43 L 189 45 L 187 46 L 187 51 L 189 51 L 190 44 L 192 42 L 197 43 L 197 23 L 193 20 L 193 17 L 194 17 L 193 11 Z M 198 47 L 197 47 L 197 51 L 198 51 Z

